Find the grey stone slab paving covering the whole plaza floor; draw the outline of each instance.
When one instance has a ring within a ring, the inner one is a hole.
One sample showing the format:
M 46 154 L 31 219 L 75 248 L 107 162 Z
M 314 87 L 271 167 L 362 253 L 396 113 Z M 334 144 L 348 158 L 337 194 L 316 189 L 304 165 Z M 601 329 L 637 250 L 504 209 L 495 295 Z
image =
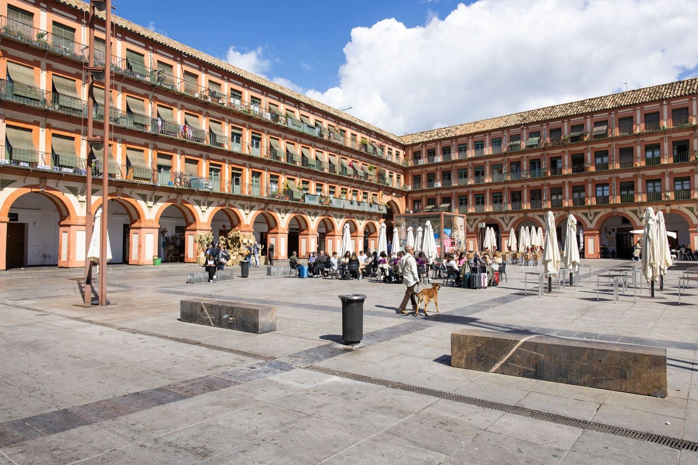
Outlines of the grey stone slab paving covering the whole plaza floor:
M 587 261 L 593 274 L 620 261 Z M 184 284 L 193 265 L 110 266 L 105 308 L 80 302 L 80 270 L 0 275 L 0 464 L 698 463 L 677 450 L 387 386 L 406 383 L 698 441 L 698 297 L 667 289 L 619 303 L 595 282 L 523 296 L 442 288 L 429 317 L 399 314 L 401 284 L 267 276 Z M 362 349 L 345 351 L 339 294 L 360 292 Z M 182 323 L 179 300 L 277 307 L 274 333 Z M 683 299 L 682 299 L 683 300 Z M 450 333 L 527 331 L 667 348 L 665 399 L 450 367 Z M 329 371 L 304 369 L 313 365 Z M 332 370 L 371 376 L 355 381 Z M 426 391 L 424 391 L 426 392 Z M 461 398 L 461 397 L 459 397 Z

